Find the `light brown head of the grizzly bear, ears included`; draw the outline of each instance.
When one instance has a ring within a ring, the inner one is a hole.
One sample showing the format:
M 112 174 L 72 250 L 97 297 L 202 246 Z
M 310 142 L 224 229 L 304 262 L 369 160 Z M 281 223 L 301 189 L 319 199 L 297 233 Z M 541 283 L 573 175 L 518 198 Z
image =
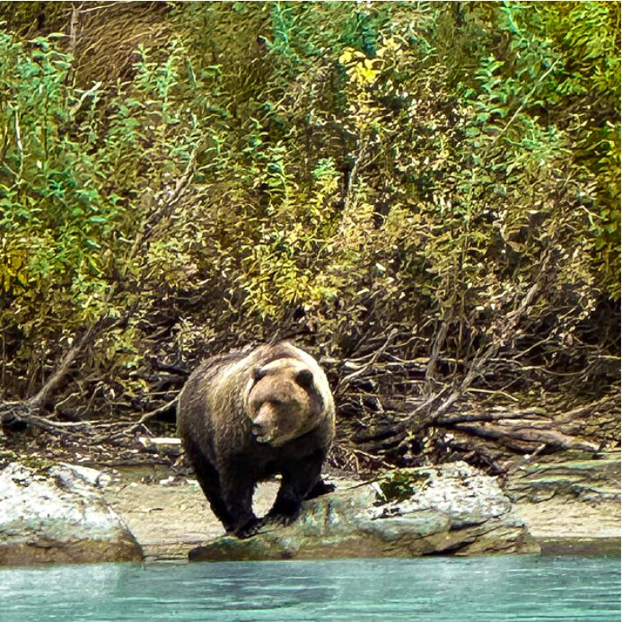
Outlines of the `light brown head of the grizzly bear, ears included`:
M 246 403 L 251 434 L 275 447 L 311 431 L 324 411 L 313 372 L 298 360 L 253 368 Z

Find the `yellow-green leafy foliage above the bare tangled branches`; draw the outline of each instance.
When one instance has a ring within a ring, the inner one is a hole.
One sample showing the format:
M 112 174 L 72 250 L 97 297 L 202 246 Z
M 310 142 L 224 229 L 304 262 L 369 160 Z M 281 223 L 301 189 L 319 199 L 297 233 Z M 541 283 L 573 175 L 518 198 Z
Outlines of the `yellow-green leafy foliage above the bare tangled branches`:
M 66 36 L 0 32 L 4 329 L 126 317 L 130 369 L 151 315 L 182 351 L 460 317 L 468 357 L 546 256 L 528 332 L 619 297 L 618 3 L 170 8 L 85 87 Z

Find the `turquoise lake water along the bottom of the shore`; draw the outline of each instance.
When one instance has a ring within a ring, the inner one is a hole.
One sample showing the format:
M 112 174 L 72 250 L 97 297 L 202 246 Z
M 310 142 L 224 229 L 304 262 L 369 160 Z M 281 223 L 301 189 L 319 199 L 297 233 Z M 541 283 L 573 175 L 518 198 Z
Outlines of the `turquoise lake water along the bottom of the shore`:
M 0 570 L 0 620 L 619 620 L 617 557 Z

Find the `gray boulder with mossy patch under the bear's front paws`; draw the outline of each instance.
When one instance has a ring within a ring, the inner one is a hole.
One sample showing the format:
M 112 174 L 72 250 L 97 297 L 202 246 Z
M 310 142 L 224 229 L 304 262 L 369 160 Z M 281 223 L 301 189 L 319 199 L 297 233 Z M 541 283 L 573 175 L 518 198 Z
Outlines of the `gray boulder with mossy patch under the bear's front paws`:
M 372 484 L 341 485 L 305 502 L 286 528 L 225 536 L 190 561 L 539 553 L 495 477 L 465 463 L 400 470 Z

